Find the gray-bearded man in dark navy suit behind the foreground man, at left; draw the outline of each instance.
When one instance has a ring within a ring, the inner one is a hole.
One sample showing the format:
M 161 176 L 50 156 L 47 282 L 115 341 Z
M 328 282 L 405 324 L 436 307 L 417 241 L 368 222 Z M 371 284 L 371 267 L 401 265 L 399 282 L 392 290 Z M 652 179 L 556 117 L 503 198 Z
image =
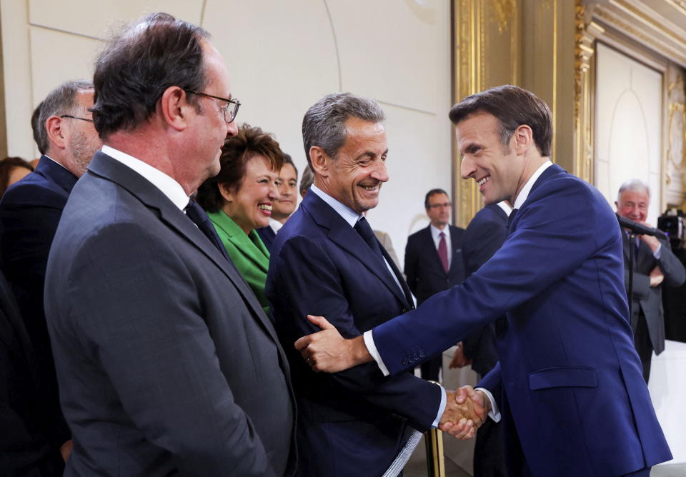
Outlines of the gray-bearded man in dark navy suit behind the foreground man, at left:
M 44 407 L 37 421 L 54 450 L 62 448 L 65 457 L 71 441 L 59 408 L 43 285 L 48 252 L 66 199 L 101 146 L 91 106 L 90 81 L 69 81 L 46 96 L 31 117 L 41 160 L 36 171 L 14 184 L 0 201 L 1 266 L 19 303 L 36 352 L 39 382 L 44 386 Z

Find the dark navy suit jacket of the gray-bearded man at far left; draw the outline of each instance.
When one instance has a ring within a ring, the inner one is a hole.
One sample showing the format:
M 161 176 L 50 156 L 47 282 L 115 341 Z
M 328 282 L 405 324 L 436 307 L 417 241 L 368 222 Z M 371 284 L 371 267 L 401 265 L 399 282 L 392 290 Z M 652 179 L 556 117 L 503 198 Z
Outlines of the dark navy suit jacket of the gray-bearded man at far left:
M 46 156 L 36 170 L 11 186 L 0 201 L 0 264 L 9 281 L 36 353 L 41 422 L 54 448 L 70 437 L 59 407 L 43 286 L 50 245 L 76 176 Z

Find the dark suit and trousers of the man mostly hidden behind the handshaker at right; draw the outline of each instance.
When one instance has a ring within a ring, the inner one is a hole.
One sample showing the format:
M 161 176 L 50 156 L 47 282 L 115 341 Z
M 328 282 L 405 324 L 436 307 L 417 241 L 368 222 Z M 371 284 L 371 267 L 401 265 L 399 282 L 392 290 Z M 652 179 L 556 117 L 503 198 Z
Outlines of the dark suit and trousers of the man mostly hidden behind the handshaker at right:
M 467 276 L 479 269 L 507 239 L 507 214 L 497 204 L 477 212 L 464 231 L 462 256 Z M 472 369 L 484 376 L 498 362 L 494 324 L 488 323 L 462 340 L 464 356 L 472 360 Z M 504 458 L 503 423 L 486 419 L 477 431 L 474 443 L 474 477 L 507 476 Z

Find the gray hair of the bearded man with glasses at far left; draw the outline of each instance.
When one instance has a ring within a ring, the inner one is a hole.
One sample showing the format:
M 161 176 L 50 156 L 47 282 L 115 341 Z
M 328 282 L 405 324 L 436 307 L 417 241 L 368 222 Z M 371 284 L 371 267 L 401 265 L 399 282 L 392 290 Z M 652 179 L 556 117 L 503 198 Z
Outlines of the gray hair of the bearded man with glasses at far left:
M 80 91 L 93 89 L 93 82 L 87 79 L 67 81 L 50 91 L 48 96 L 36 107 L 31 115 L 31 129 L 34 131 L 34 141 L 41 154 L 46 154 L 50 147 L 48 131 L 45 123 L 50 116 L 71 114 L 77 116 L 84 111 L 76 110 L 76 94 Z

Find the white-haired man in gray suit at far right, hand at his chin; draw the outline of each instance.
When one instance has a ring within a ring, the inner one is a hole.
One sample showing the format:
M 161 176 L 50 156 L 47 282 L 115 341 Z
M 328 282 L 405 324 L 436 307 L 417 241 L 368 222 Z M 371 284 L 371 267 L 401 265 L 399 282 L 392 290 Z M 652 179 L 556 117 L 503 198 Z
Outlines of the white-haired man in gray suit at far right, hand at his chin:
M 645 223 L 650 204 L 650 189 L 640 179 L 626 181 L 617 195 L 617 214 L 640 224 Z M 631 328 L 634 344 L 643 366 L 643 378 L 648 382 L 652 352 L 665 350 L 665 318 L 662 311 L 662 283 L 680 286 L 686 279 L 684 266 L 666 240 L 640 235 L 630 243 L 629 234 L 624 241 L 625 286 L 629 288 L 629 253 L 634 251 L 633 299 Z

